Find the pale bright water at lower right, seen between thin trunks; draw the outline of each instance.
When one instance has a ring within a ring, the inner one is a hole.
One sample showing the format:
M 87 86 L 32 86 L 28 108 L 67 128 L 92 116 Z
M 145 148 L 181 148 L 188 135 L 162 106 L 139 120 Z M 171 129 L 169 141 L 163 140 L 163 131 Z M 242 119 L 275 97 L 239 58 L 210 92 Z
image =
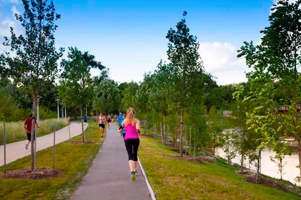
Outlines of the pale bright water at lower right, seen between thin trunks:
M 223 149 L 219 148 L 217 149 L 217 154 L 219 156 L 225 158 L 226 153 L 223 151 Z M 278 170 L 277 163 L 271 161 L 270 157 L 274 156 L 275 153 L 271 150 L 264 149 L 261 152 L 261 173 L 280 179 L 280 172 Z M 232 159 L 232 162 L 240 164 L 240 156 L 236 156 L 234 159 Z M 249 162 L 247 160 L 244 161 L 245 166 L 249 167 Z M 296 166 L 299 164 L 298 162 L 298 154 L 297 152 L 292 152 L 292 155 L 288 156 L 286 155 L 282 161 L 283 164 L 283 172 L 282 172 L 282 179 L 288 180 L 294 184 L 301 185 L 301 183 L 297 183 L 294 178 L 299 175 L 299 168 Z M 254 165 L 250 166 L 251 169 L 256 170 Z

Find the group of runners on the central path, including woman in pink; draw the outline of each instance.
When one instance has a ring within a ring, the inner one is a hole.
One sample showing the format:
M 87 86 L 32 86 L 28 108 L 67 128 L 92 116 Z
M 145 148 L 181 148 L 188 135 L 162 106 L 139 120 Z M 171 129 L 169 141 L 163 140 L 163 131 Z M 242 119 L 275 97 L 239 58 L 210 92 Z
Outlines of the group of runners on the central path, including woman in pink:
M 108 120 L 109 119 L 109 120 Z M 111 123 L 111 116 L 105 117 L 102 113 L 100 113 L 98 117 L 98 124 L 100 128 L 101 136 L 103 137 L 103 132 L 105 128 L 105 120 L 108 122 L 108 128 L 110 128 Z M 119 113 L 116 116 L 116 120 L 119 124 L 119 133 L 120 136 L 123 136 L 123 141 L 125 144 L 125 149 L 128 155 L 128 165 L 130 169 L 131 179 L 136 179 L 137 173 L 137 151 L 139 147 L 139 133 L 140 133 L 140 122 L 138 119 L 135 118 L 135 109 L 130 107 L 127 109 L 126 114 Z

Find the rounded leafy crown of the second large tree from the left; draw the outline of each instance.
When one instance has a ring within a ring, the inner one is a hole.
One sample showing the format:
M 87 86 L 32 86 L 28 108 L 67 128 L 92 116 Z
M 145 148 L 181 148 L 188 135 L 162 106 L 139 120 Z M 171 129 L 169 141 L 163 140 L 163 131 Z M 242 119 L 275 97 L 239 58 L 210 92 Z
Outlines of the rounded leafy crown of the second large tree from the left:
M 83 115 L 83 106 L 88 104 L 93 96 L 93 81 L 90 74 L 91 68 L 105 69 L 95 56 L 88 52 L 81 52 L 76 47 L 69 47 L 68 60 L 63 59 L 59 95 L 63 104 L 77 106 L 80 116 Z

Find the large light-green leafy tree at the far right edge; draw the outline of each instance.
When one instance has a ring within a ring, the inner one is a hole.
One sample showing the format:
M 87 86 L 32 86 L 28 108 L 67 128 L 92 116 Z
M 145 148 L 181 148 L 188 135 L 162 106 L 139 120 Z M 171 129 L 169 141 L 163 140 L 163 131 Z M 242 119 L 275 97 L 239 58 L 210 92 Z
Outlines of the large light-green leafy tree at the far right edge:
M 264 135 L 270 135 L 267 133 L 275 133 L 281 129 L 284 135 L 292 135 L 298 143 L 299 166 L 301 165 L 301 131 L 298 113 L 300 100 L 298 95 L 300 91 L 298 67 L 301 64 L 300 4 L 301 0 L 292 3 L 289 0 L 278 0 L 271 9 L 269 26 L 261 31 L 263 34 L 261 44 L 254 46 L 252 42 L 245 41 L 244 46 L 238 51 L 238 57 L 244 56 L 248 66 L 253 67 L 249 78 L 264 80 L 263 83 L 257 84 L 255 89 L 258 94 L 256 97 L 262 97 L 261 102 L 264 103 L 256 109 L 264 112 L 264 115 L 259 116 L 260 120 L 254 109 L 253 114 L 249 115 L 250 120 L 253 121 L 252 123 L 250 121 L 250 124 L 255 125 L 255 122 L 260 122 L 259 125 L 257 124 L 257 128 L 263 130 Z M 270 89 L 275 91 L 276 82 L 285 93 L 284 102 L 287 112 L 282 115 L 275 111 L 275 107 L 279 107 L 279 105 L 273 101 L 273 98 L 266 95 L 264 97 L 264 92 L 271 92 Z M 278 128 L 274 125 L 277 125 Z M 269 138 L 273 137 L 267 136 L 265 140 L 268 141 Z M 301 167 L 299 168 L 301 175 Z

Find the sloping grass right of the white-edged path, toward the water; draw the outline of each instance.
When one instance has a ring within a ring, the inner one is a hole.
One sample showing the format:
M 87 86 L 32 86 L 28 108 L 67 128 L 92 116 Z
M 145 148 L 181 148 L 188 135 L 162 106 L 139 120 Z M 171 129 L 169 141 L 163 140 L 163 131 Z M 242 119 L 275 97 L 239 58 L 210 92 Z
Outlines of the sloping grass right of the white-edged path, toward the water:
M 236 167 L 224 162 L 200 164 L 172 158 L 179 155 L 153 138 L 141 137 L 139 158 L 157 199 L 301 199 L 296 193 L 249 183 Z

